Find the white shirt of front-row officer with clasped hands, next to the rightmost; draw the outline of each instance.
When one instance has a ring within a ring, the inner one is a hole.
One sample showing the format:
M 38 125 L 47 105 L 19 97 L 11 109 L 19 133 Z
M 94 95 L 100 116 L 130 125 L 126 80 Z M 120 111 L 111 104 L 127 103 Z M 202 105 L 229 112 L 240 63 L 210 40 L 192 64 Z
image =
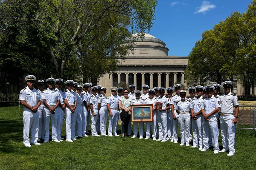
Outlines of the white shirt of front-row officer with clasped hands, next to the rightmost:
M 215 108 L 220 108 L 221 102 L 219 98 L 216 98 L 212 95 L 211 98 L 207 98 L 203 100 L 203 104 L 201 106 L 201 109 L 204 109 L 205 115 L 211 113 Z M 217 116 L 218 112 L 216 112 L 214 115 L 211 116 Z

